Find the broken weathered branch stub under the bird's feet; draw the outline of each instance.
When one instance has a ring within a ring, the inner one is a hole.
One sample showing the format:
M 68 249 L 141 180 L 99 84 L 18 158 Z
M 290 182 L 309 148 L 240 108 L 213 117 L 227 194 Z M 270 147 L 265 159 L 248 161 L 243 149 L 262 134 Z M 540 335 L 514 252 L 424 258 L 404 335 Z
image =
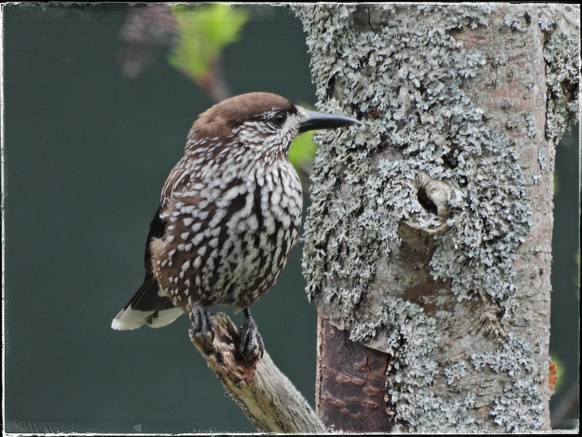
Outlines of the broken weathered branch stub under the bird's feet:
M 190 340 L 216 373 L 230 397 L 261 432 L 318 433 L 325 427 L 301 393 L 275 366 L 265 351 L 260 360 L 235 360 L 239 329 L 224 313 L 212 315 L 214 341 L 203 347 L 190 330 Z

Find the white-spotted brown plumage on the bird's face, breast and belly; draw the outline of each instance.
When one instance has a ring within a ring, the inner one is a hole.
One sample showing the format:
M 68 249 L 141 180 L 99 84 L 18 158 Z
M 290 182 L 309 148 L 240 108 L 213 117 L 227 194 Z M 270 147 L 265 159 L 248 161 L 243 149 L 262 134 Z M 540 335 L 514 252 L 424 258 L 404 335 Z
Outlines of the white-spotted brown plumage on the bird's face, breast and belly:
M 288 126 L 269 125 L 286 111 Z M 301 184 L 287 159 L 302 117 L 286 100 L 253 112 L 258 121 L 208 139 L 207 119 L 164 187 L 164 237 L 151 242 L 153 273 L 172 302 L 252 305 L 275 283 L 299 237 Z

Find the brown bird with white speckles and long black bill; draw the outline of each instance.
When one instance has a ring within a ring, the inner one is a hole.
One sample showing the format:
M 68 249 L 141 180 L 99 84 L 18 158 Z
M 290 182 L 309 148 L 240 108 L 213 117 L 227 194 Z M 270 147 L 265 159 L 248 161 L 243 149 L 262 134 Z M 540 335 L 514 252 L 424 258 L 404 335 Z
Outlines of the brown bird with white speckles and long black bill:
M 115 330 L 166 326 L 189 315 L 203 347 L 216 304 L 244 313 L 236 358 L 264 341 L 249 307 L 277 281 L 299 239 L 303 195 L 289 147 L 299 133 L 361 125 L 272 93 L 230 97 L 198 116 L 150 223 L 141 287 Z

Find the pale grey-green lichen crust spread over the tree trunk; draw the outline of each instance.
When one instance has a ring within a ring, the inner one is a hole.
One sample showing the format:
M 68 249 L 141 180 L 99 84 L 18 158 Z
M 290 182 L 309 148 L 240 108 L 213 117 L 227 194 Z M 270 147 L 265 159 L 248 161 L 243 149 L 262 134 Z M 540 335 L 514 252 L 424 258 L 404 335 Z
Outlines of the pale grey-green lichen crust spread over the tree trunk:
M 515 312 L 513 260 L 531 226 L 516 146 L 487 125 L 484 111 L 463 91 L 486 60 L 450 36 L 451 30 L 487 25 L 491 10 L 489 5 L 325 4 L 297 9 L 313 55 L 318 107 L 364 122 L 361 128 L 315 136 L 321 147 L 304 234 L 307 294 L 332 323 L 349 330 L 353 341 L 370 344 L 384 336 L 384 350 L 398 351 L 388 397 L 396 424 L 420 432 L 476 432 L 479 416 L 470 411 L 474 394 L 431 392 L 437 376 L 451 385 L 473 371 L 466 362 L 439 369 L 431 359 L 440 340 L 435 320 L 388 291 L 373 305 L 367 301 L 377 262 L 389 260 L 391 246 L 400 242 L 399 224 L 411 217 L 424 228 L 438 222 L 417 201 L 415 175 L 425 172 L 456 185 L 447 222 L 452 229 L 434 237 L 430 266 L 435 280 L 450 281 L 459 301 L 481 295 L 499 305 L 504 317 Z M 384 15 L 391 17 L 389 26 L 377 24 L 376 16 Z M 506 21 L 510 27 L 521 23 L 515 17 Z M 526 121 L 530 136 L 537 135 L 533 117 Z M 363 306 L 367 309 L 360 311 Z M 519 369 L 512 364 L 516 351 Z M 521 385 L 504 390 L 491 404 L 491 414 L 506 429 L 541 427 L 543 405 L 539 396 L 528 394 L 538 390 L 530 375 L 532 355 L 526 342 L 511 334 L 499 350 L 471 358 L 473 366 L 520 377 Z M 512 390 L 523 394 L 515 401 L 522 401 L 518 409 L 528 414 L 502 411 Z

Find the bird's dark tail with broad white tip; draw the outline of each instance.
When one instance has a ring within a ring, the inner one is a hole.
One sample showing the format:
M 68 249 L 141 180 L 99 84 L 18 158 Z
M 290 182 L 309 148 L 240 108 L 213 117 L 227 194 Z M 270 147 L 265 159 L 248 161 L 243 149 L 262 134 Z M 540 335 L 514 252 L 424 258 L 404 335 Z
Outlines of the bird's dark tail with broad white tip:
M 118 330 L 137 329 L 141 325 L 161 327 L 172 323 L 182 310 L 172 304 L 160 290 L 153 276 L 145 279 L 136 294 L 115 316 L 111 327 Z

